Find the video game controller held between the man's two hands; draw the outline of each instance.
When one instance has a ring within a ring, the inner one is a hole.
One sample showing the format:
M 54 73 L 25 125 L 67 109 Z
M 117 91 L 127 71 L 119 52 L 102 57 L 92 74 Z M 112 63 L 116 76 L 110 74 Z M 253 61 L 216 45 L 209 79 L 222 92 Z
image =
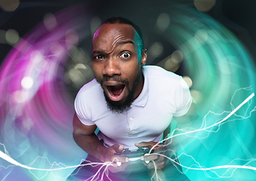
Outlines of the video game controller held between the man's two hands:
M 149 152 L 150 152 L 150 149 L 147 147 L 138 147 L 137 151 L 131 152 L 131 150 L 129 149 L 124 149 L 120 153 L 115 153 L 115 155 L 120 155 L 128 158 L 140 158 L 140 156 L 143 156 Z M 151 150 L 150 153 L 153 153 L 153 152 L 154 150 Z

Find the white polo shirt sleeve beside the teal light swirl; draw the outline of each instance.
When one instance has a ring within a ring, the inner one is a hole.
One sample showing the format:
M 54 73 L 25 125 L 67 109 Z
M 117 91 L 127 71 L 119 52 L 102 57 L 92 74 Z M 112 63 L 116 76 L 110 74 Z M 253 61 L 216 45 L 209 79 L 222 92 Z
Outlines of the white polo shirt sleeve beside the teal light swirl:
M 177 106 L 174 116 L 179 117 L 185 115 L 190 109 L 192 98 L 190 95 L 190 88 L 182 77 L 180 77 L 179 88 L 177 89 L 174 99 Z

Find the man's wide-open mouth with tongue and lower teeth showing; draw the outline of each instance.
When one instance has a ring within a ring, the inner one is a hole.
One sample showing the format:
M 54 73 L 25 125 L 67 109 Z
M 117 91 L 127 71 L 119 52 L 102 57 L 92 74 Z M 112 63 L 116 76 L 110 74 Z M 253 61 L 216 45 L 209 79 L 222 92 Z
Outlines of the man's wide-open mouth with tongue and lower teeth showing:
M 113 101 L 122 100 L 124 96 L 125 84 L 106 84 L 106 89 L 108 90 L 109 98 Z

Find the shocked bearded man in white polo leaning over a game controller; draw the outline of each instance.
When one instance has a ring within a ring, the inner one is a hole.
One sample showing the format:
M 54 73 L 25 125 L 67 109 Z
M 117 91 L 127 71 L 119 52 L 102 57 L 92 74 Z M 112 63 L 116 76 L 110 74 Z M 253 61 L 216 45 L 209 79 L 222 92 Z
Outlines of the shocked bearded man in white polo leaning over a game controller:
M 173 116 L 184 115 L 190 108 L 190 90 L 184 80 L 160 67 L 145 66 L 146 60 L 140 29 L 130 20 L 109 18 L 94 33 L 95 79 L 76 96 L 73 137 L 88 153 L 87 161 L 112 165 L 107 167 L 109 171 L 103 170 L 103 164 L 79 167 L 69 180 L 93 176 L 150 180 L 155 167 L 169 174 L 165 174 L 167 180 L 188 180 L 163 156 L 145 155 L 131 161 L 115 154 L 123 149 L 152 148 L 162 139 Z M 165 151 L 162 143 L 154 148 L 155 153 L 167 155 Z

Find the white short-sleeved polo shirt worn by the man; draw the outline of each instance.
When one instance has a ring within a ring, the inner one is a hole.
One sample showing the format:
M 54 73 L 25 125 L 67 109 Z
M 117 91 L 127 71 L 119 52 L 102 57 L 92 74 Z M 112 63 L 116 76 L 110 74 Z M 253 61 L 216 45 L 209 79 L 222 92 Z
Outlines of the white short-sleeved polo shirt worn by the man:
M 172 117 L 190 109 L 190 90 L 181 76 L 159 66 L 143 66 L 143 75 L 143 90 L 125 114 L 106 107 L 103 89 L 95 79 L 79 90 L 76 114 L 82 124 L 97 125 L 105 146 L 117 143 L 136 150 L 134 143 L 159 142 Z

